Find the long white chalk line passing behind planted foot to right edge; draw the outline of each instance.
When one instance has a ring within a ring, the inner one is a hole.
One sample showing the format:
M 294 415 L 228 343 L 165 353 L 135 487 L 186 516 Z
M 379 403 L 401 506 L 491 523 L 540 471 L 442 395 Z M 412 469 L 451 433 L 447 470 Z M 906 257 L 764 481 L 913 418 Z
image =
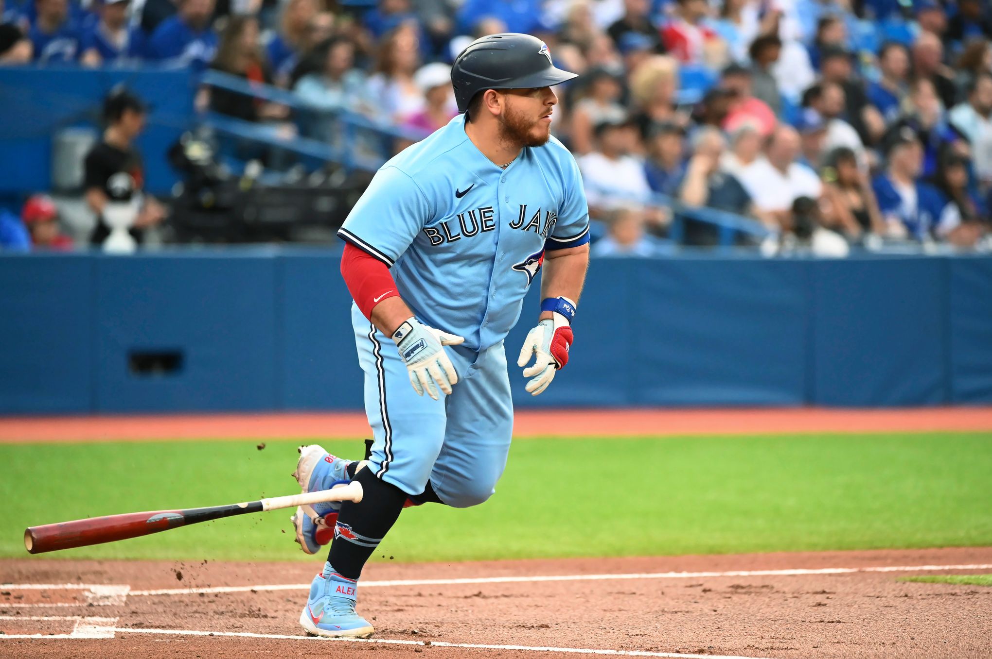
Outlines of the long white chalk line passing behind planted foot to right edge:
M 948 570 L 989 570 L 992 563 L 973 565 L 915 565 L 868 568 L 820 568 L 791 570 L 731 570 L 728 572 L 648 572 L 618 575 L 549 575 L 535 577 L 478 577 L 466 579 L 400 579 L 391 581 L 362 582 L 362 588 L 387 588 L 397 586 L 457 586 L 461 584 L 533 584 L 561 581 L 612 581 L 621 579 L 701 579 L 713 577 L 787 577 L 804 575 L 845 575 L 862 572 L 941 572 Z M 264 591 L 309 590 L 310 584 L 275 584 L 259 586 L 212 586 L 204 588 L 167 588 L 149 591 L 130 591 L 138 597 L 166 595 L 197 595 L 199 593 L 249 593 Z

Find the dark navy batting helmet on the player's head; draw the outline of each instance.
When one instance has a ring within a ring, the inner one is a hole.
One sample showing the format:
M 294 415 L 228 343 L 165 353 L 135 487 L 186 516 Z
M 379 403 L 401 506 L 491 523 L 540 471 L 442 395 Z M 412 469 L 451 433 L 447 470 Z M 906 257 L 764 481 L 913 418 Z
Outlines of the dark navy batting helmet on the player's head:
M 531 35 L 515 32 L 476 39 L 454 59 L 451 86 L 458 112 L 472 96 L 486 89 L 532 89 L 577 77 L 552 62 L 548 46 Z

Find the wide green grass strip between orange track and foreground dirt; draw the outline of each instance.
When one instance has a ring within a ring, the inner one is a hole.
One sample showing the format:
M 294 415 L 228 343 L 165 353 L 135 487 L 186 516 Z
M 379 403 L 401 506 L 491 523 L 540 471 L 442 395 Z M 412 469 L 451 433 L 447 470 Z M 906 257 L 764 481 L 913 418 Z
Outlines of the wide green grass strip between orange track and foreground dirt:
M 0 556 L 27 556 L 32 524 L 298 492 L 297 443 L 267 444 L 0 445 Z M 992 545 L 989 474 L 990 433 L 521 440 L 489 502 L 405 510 L 376 560 Z M 49 556 L 312 560 L 290 514 Z

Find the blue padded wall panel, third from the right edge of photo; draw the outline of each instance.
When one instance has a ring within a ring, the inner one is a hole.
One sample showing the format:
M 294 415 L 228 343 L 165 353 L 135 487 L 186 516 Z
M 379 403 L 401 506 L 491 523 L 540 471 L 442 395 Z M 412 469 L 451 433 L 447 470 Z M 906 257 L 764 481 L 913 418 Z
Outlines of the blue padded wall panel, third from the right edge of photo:
M 805 264 L 681 259 L 640 266 L 626 307 L 638 329 L 628 352 L 634 402 L 803 402 Z

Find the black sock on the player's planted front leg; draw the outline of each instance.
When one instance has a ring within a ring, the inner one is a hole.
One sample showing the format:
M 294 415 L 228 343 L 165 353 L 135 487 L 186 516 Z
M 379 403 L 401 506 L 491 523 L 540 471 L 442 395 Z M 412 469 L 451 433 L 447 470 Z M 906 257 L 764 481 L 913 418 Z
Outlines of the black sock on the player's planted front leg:
M 365 562 L 396 523 L 407 500 L 405 492 L 377 479 L 371 469 L 361 470 L 353 480 L 362 484 L 362 500 L 341 504 L 327 555 L 334 571 L 348 579 L 361 576 Z

